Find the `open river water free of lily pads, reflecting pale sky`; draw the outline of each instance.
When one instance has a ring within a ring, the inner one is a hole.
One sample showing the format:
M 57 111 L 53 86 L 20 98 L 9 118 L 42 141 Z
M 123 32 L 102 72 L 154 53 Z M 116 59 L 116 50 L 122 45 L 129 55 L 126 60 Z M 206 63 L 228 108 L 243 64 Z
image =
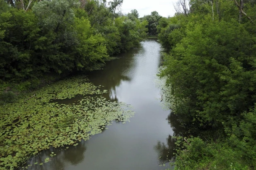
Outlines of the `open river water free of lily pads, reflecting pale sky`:
M 28 162 L 32 165 L 30 170 L 165 169 L 158 165 L 162 153 L 156 145 L 166 143 L 173 131 L 167 120 L 170 111 L 162 108 L 162 92 L 155 83 L 162 62 L 161 45 L 156 40 L 146 40 L 138 49 L 117 57 L 120 58 L 107 62 L 104 70 L 93 71 L 88 77 L 94 85 L 103 85 L 103 89 L 109 90 L 104 94 L 107 99 L 133 106 L 135 116 L 126 124 L 114 122 L 77 146 L 43 151 Z M 70 104 L 81 98 L 66 99 L 62 103 Z M 56 156 L 51 158 L 51 152 Z M 47 157 L 51 161 L 39 165 Z M 34 165 L 35 162 L 38 164 Z

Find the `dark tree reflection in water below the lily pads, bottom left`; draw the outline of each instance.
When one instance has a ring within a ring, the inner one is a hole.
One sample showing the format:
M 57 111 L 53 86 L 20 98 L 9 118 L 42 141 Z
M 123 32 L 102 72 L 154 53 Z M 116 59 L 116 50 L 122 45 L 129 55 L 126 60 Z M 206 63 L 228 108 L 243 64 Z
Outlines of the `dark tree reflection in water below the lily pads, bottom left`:
M 51 148 L 45 151 L 41 151 L 41 153 L 31 158 L 25 165 L 29 166 L 28 170 L 63 170 L 65 168 L 65 164 L 77 165 L 78 163 L 84 160 L 84 154 L 86 151 L 85 141 L 79 142 L 77 146 L 69 146 L 68 149 L 66 147 L 63 148 Z M 51 152 L 54 152 L 56 156 L 51 157 Z M 44 163 L 46 158 L 50 158 L 48 163 Z M 34 165 L 34 163 L 38 163 Z M 43 165 L 39 165 L 43 163 Z

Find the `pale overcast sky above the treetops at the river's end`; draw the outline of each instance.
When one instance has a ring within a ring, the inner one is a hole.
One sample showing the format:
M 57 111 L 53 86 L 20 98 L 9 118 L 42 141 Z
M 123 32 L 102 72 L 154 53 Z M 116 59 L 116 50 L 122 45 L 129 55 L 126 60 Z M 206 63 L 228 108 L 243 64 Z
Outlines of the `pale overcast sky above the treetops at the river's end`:
M 174 5 L 177 0 L 123 0 L 122 12 L 127 14 L 137 9 L 140 17 L 157 11 L 162 17 L 174 16 Z

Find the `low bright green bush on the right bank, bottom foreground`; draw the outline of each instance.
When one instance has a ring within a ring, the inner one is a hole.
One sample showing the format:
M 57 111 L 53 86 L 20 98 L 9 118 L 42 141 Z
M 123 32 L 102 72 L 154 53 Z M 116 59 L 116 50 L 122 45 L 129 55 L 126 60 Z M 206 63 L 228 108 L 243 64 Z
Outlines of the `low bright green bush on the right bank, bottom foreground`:
M 176 157 L 175 170 L 249 170 L 240 151 L 223 142 L 203 142 L 195 137 L 186 149 L 179 150 Z

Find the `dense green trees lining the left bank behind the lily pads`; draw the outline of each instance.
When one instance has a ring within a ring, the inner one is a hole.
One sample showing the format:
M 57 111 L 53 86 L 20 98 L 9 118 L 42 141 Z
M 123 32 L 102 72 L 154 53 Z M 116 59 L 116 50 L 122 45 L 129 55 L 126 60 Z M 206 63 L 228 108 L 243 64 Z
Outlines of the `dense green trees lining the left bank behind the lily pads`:
M 147 21 L 116 14 L 122 1 L 43 0 L 27 10 L 20 2 L 29 3 L 0 0 L 2 90 L 31 79 L 39 85 L 46 73 L 98 69 L 147 35 Z

